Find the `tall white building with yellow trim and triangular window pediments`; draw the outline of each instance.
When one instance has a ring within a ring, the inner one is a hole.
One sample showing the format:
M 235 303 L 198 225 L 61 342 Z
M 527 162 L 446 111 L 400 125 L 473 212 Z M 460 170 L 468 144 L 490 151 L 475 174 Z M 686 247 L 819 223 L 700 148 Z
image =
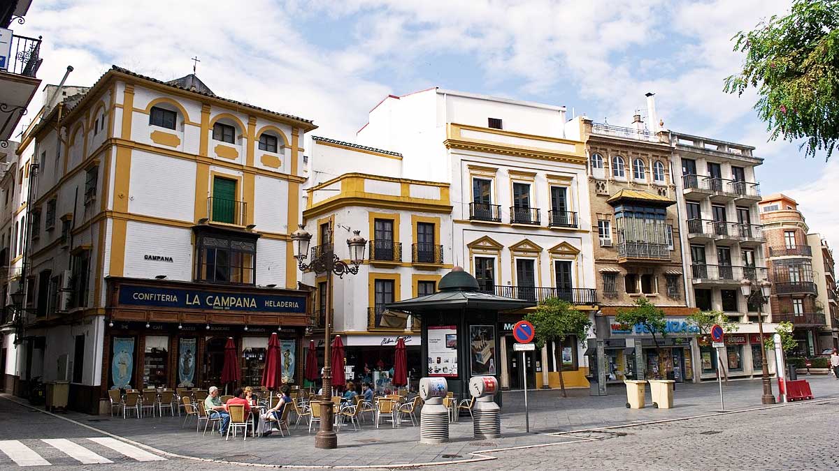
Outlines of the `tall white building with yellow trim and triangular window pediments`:
M 388 96 L 357 133 L 363 145 L 399 152 L 403 176 L 451 184 L 452 263 L 482 288 L 513 298 L 597 302 L 581 120 L 565 107 L 432 88 Z M 549 344 L 521 365 L 508 314 L 495 363 L 505 388 L 588 386 L 578 340 Z M 524 366 L 524 367 L 523 367 Z M 534 377 L 533 377 L 534 376 Z

